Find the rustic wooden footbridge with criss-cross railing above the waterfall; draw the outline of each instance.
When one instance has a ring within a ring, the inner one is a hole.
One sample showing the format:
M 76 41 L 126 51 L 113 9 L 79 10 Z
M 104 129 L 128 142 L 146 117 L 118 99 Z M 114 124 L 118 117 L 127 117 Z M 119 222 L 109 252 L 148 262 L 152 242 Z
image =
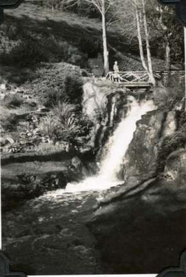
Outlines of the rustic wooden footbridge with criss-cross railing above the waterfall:
M 118 74 L 118 78 L 116 75 Z M 154 77 L 156 81 L 161 81 L 163 84 L 166 83 L 169 76 L 175 76 L 180 82 L 185 80 L 185 71 L 156 71 Z M 115 83 L 120 83 L 125 87 L 149 87 L 149 74 L 143 71 L 125 71 L 125 72 L 108 72 L 106 78 Z

